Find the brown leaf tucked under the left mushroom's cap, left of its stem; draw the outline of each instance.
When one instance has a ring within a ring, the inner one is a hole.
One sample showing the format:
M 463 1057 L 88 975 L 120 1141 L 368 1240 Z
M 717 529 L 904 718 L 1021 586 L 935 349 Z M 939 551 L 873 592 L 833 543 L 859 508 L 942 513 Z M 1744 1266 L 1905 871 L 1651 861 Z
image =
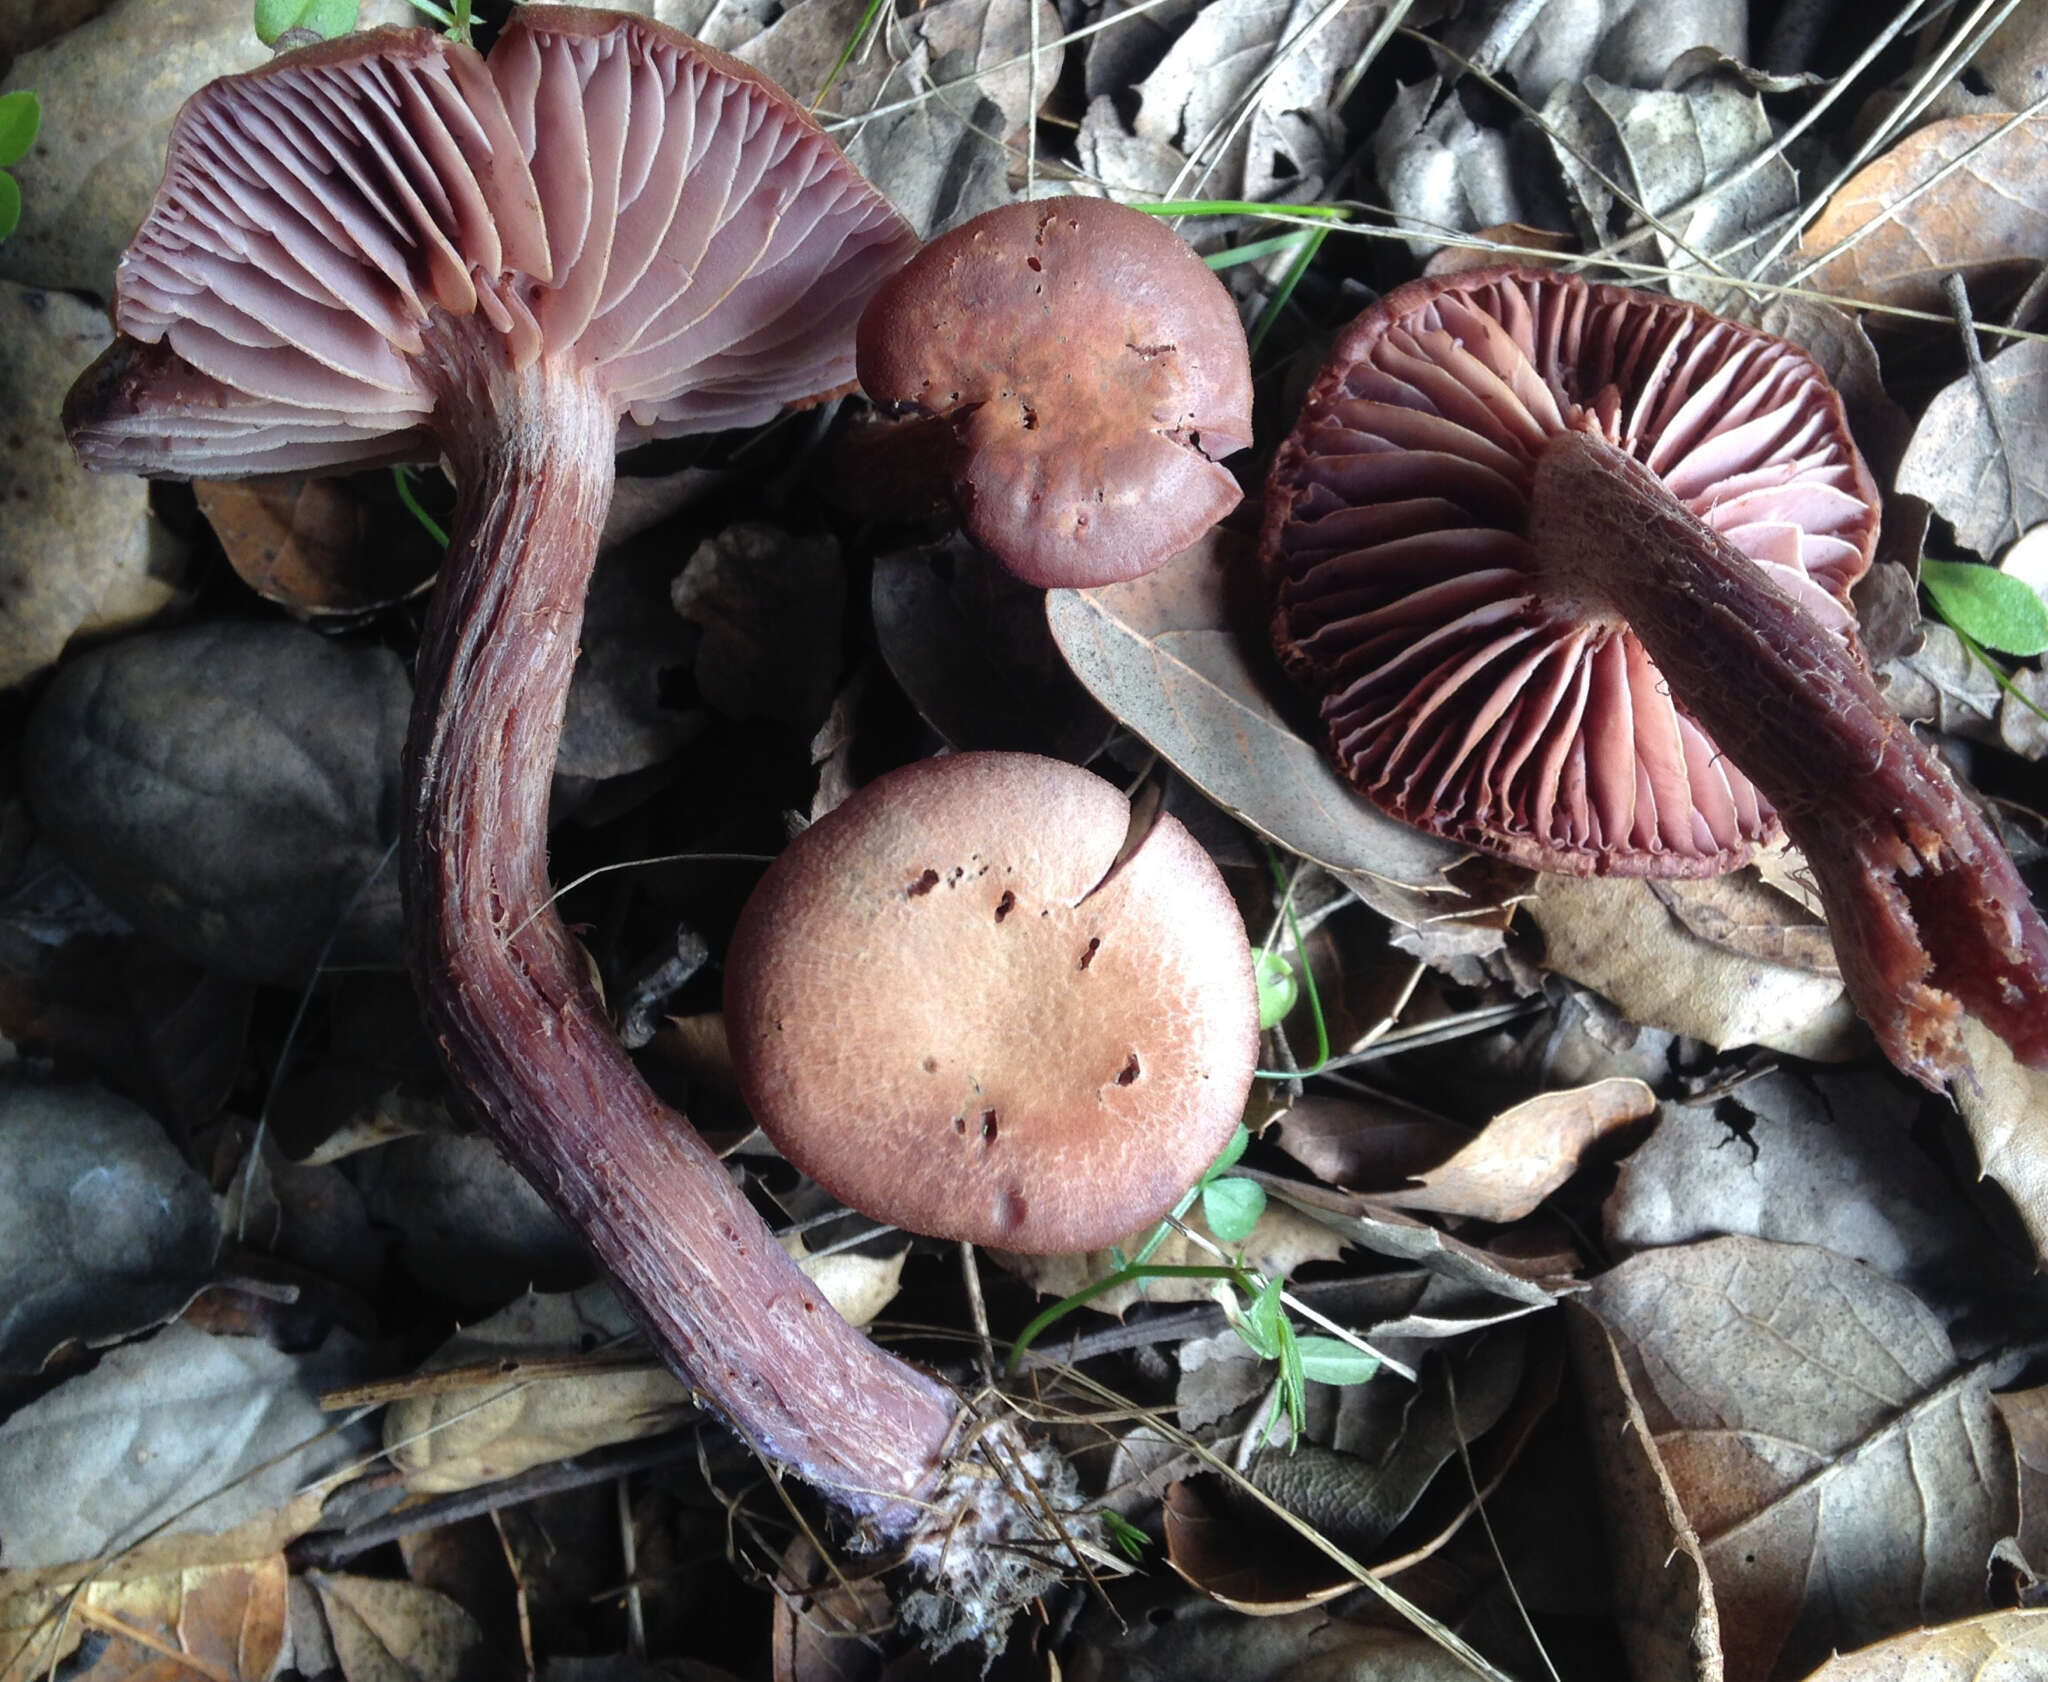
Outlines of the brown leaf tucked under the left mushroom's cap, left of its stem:
M 193 494 L 242 582 L 295 619 L 373 613 L 440 567 L 426 531 L 377 520 L 356 479 L 199 479 Z

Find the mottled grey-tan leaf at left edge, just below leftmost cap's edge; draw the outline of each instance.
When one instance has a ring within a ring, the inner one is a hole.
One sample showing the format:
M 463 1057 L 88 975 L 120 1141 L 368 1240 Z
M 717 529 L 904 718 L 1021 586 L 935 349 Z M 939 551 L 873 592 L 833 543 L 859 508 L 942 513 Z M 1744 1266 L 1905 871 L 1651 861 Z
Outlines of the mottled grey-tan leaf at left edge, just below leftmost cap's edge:
M 90 303 L 0 283 L 0 688 L 53 664 L 74 631 L 174 598 L 182 545 L 150 514 L 147 483 L 88 473 L 57 420 L 109 338 Z

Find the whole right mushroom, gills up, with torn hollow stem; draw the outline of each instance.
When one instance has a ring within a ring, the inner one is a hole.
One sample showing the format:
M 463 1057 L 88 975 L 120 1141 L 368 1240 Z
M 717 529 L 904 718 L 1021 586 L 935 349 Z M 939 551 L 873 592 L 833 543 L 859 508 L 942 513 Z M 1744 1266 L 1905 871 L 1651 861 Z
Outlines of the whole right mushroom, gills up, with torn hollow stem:
M 1898 1067 L 1966 1069 L 1962 1010 L 2048 1063 L 2048 926 L 1855 641 L 1876 535 L 1804 352 L 1489 268 L 1339 336 L 1260 553 L 1282 662 L 1395 817 L 1581 875 L 1712 875 L 1782 824 Z

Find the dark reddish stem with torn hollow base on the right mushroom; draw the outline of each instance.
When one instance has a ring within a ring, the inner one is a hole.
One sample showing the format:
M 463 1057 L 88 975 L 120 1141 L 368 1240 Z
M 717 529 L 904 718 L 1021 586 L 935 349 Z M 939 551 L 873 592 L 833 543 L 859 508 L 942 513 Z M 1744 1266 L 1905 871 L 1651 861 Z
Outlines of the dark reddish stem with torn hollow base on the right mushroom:
M 1884 1053 L 1939 1088 L 1968 1067 L 1970 1010 L 2048 1065 L 2048 924 L 1851 645 L 1587 432 L 1544 447 L 1530 539 L 1548 578 L 1628 623 L 1673 699 L 1778 807 Z

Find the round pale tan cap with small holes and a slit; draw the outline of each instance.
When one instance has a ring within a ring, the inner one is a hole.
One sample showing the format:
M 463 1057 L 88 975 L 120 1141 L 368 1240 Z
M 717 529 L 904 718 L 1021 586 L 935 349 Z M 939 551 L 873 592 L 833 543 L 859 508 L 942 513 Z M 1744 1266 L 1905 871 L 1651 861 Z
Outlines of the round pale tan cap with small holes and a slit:
M 725 1024 L 762 1131 L 844 1203 L 1038 1254 L 1165 1215 L 1257 1055 L 1237 906 L 1174 819 L 1036 754 L 889 772 L 770 867 Z

